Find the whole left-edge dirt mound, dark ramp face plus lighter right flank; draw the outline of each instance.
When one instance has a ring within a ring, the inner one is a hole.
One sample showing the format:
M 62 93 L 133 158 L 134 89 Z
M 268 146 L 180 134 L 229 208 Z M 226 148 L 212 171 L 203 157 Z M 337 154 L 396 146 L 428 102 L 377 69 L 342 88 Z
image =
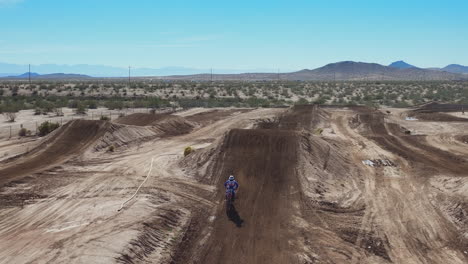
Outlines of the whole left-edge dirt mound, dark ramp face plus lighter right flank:
M 73 120 L 51 134 L 31 151 L 0 166 L 0 185 L 14 178 L 57 166 L 79 155 L 137 144 L 166 135 L 167 130 L 137 127 L 100 120 Z

